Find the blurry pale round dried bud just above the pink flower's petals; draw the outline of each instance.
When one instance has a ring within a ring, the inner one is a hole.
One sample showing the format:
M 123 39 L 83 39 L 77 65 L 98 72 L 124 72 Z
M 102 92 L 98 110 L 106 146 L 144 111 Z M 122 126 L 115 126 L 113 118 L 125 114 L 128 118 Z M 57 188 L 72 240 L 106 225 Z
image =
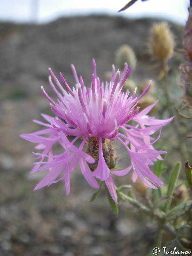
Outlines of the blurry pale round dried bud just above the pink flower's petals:
M 116 63 L 120 70 L 124 69 L 125 62 L 127 62 L 128 66 L 131 65 L 132 70 L 136 68 L 137 59 L 135 57 L 135 53 L 127 44 L 120 46 L 116 52 Z

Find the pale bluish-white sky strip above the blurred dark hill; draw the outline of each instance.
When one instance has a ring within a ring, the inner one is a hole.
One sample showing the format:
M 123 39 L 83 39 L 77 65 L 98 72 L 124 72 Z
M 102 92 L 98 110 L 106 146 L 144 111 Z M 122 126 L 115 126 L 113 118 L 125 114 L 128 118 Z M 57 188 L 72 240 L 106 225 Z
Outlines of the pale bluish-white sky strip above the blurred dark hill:
M 127 18 L 164 18 L 185 25 L 189 0 L 137 0 L 129 9 L 117 13 L 130 0 L 0 0 L 0 20 L 13 22 L 51 22 L 71 15 L 109 14 Z

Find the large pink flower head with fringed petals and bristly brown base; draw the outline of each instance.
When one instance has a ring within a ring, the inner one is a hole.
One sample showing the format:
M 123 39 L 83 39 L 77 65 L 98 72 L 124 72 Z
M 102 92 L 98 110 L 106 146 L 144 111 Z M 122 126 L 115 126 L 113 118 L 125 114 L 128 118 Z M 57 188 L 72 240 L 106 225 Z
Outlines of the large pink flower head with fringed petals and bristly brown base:
M 34 153 L 38 156 L 37 158 L 40 158 L 40 162 L 34 164 L 31 172 L 49 169 L 49 173 L 34 190 L 64 179 L 66 194 L 68 195 L 70 173 L 75 169 L 77 163 L 84 178 L 93 188 L 99 188 L 96 179 L 105 181 L 116 203 L 117 194 L 111 177 L 112 174 L 124 176 L 133 169 L 133 182 L 138 176 L 150 188 L 163 185 L 163 182 L 150 171 L 148 166 L 154 164 L 156 159 L 162 160 L 160 154 L 166 152 L 157 151 L 153 148 L 151 141 L 154 139 L 150 135 L 168 124 L 173 117 L 167 120 L 149 117 L 147 114 L 156 103 L 139 113 L 139 107 L 136 106 L 140 98 L 148 92 L 150 84 L 139 97 L 135 97 L 136 90 L 131 96 L 129 96 L 128 90 L 121 92 L 124 82 L 131 72 L 131 67 L 128 68 L 126 63 L 121 78 L 120 71 L 118 70 L 115 74 L 113 67 L 111 81 L 106 82 L 105 86 L 103 83 L 100 84 L 96 75 L 94 59 L 91 88 L 85 87 L 82 77 L 78 78 L 73 65 L 72 71 L 76 80 L 76 88 L 73 87 L 73 89 L 69 87 L 60 73 L 66 91 L 52 70 L 49 69 L 50 86 L 56 93 L 58 101 L 53 101 L 43 87 L 41 90 L 51 102 L 51 109 L 56 117 L 42 114 L 48 123 L 36 120 L 34 122 L 44 125 L 46 129 L 20 135 L 26 140 L 38 143 L 36 149 L 43 149 L 41 154 Z M 52 80 L 62 94 L 55 88 Z M 129 121 L 131 120 L 135 121 L 136 125 L 130 125 Z M 120 128 L 121 132 L 119 131 Z M 44 137 L 44 134 L 48 134 L 48 137 Z M 75 136 L 71 142 L 68 140 L 69 135 Z M 74 142 L 79 138 L 82 138 L 82 141 L 77 148 Z M 116 158 L 111 143 L 113 140 L 119 140 L 123 144 L 131 159 L 131 165 L 121 171 L 114 170 Z M 52 145 L 55 142 L 58 142 L 64 149 L 60 155 L 53 155 L 52 153 Z M 86 149 L 85 145 L 87 146 Z M 44 161 L 45 158 L 48 160 Z M 41 166 L 41 164 L 44 165 Z M 58 176 L 60 176 L 59 180 L 55 180 Z

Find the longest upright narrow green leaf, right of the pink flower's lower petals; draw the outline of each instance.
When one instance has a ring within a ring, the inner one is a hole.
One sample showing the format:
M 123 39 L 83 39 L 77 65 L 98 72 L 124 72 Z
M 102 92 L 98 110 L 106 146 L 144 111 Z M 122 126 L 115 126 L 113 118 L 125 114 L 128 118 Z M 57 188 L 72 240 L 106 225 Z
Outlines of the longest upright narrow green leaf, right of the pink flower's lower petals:
M 180 173 L 180 169 L 181 169 L 181 163 L 178 162 L 171 174 L 170 180 L 169 180 L 169 184 L 168 184 L 168 188 L 167 188 L 167 196 L 171 197 L 173 195 L 174 189 L 175 189 L 175 185 L 176 182 L 178 180 L 179 177 L 179 173 Z M 165 203 L 165 212 L 169 211 L 170 205 L 171 205 L 171 201 L 172 199 L 170 198 L 166 203 Z

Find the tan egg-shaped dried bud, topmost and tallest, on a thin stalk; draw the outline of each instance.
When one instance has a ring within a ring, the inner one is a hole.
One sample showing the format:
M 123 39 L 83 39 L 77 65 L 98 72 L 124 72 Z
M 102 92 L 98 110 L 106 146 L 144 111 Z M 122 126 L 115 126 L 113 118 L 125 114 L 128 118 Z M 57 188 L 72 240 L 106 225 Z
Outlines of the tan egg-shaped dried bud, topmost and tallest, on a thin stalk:
M 159 60 L 172 57 L 174 40 L 167 22 L 155 23 L 151 28 L 151 50 Z

